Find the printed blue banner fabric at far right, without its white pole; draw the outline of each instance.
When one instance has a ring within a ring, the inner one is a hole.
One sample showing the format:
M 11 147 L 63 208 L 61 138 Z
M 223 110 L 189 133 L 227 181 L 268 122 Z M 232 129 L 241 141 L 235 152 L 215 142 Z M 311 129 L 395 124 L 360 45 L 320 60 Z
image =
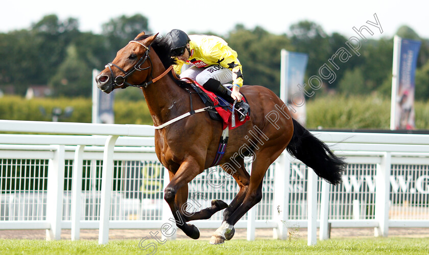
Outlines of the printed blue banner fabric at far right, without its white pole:
M 400 40 L 396 130 L 415 129 L 415 74 L 420 45 L 420 41 Z

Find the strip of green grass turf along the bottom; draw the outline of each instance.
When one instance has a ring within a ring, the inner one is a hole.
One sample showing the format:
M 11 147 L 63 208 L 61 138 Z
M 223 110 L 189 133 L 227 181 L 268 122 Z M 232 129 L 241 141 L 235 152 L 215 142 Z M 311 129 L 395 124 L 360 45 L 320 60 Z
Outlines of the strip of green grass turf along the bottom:
M 99 245 L 97 241 L 0 240 L 0 254 L 150 254 L 149 247 L 156 243 L 153 254 L 428 254 L 427 238 L 355 238 L 318 241 L 307 246 L 305 239 L 263 240 L 253 242 L 231 240 L 223 245 L 210 245 L 208 241 L 179 240 L 159 244 L 150 239 L 110 241 Z M 149 246 L 148 246 L 149 245 Z

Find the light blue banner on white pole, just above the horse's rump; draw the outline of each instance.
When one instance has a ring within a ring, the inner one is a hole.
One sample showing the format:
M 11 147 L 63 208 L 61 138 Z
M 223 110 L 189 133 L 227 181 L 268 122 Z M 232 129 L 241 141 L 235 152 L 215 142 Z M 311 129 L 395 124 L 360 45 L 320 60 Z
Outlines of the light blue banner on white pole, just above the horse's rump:
M 281 50 L 280 99 L 288 105 L 292 117 L 303 126 L 305 126 L 307 114 L 304 93 L 299 89 L 298 84 L 304 84 L 307 61 L 307 54 Z M 297 101 L 292 98 L 300 99 Z

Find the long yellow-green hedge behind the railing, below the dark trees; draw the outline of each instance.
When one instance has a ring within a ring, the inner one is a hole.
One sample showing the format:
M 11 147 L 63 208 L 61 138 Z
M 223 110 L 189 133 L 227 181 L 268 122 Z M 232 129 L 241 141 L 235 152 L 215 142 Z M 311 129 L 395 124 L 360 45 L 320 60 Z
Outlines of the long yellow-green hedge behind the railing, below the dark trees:
M 91 99 L 87 98 L 34 98 L 27 100 L 18 96 L 0 98 L 0 119 L 43 120 L 39 108 L 50 115 L 54 107 L 64 110 L 73 107 L 73 114 L 60 121 L 91 122 Z M 152 124 L 144 99 L 140 101 L 116 100 L 114 103 L 115 123 Z M 415 104 L 417 129 L 429 129 L 429 103 Z M 307 127 L 316 129 L 385 129 L 390 125 L 390 98 L 377 95 L 349 96 L 327 95 L 307 100 Z

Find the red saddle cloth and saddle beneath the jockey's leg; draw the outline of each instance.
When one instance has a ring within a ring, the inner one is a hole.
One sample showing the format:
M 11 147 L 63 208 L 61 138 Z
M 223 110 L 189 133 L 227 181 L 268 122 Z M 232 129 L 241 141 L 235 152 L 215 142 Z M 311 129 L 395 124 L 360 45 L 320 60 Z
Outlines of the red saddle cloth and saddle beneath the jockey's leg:
M 212 107 L 216 111 L 210 110 L 208 111 L 208 114 L 210 117 L 214 120 L 222 121 L 224 130 L 227 126 L 230 130 L 235 129 L 235 127 L 241 126 L 248 119 L 250 119 L 250 109 L 247 113 L 246 118 L 243 121 L 240 121 L 239 118 L 236 116 L 236 110 L 234 111 L 235 114 L 235 126 L 232 126 L 232 106 L 222 97 L 219 95 L 206 90 L 203 86 L 198 84 L 197 82 L 193 81 L 192 83 L 188 83 L 190 87 L 192 87 L 193 90 L 195 90 L 194 93 L 197 93 L 201 100 L 203 101 L 204 105 L 206 107 Z M 232 85 L 231 85 L 232 87 Z M 243 94 L 243 100 L 247 103 L 246 96 Z

